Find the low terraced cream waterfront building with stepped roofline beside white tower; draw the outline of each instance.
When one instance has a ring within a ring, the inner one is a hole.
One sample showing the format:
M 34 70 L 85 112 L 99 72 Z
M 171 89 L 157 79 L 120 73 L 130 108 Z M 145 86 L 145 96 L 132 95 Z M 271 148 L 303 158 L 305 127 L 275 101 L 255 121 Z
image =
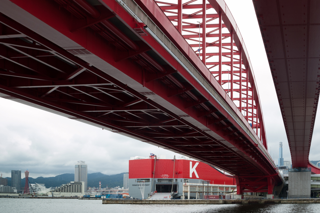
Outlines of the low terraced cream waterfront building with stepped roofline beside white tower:
M 84 182 L 71 181 L 52 190 L 53 197 L 81 197 L 84 195 Z

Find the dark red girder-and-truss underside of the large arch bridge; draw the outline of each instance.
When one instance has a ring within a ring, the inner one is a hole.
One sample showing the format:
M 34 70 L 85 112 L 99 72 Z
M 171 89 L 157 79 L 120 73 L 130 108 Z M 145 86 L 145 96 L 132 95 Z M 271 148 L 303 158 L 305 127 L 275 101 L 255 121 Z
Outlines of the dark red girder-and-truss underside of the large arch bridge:
M 3 98 L 216 166 L 236 175 L 239 193 L 272 193 L 281 178 L 261 141 L 154 38 L 141 37 L 143 27 L 119 4 L 96 6 L 93 19 L 61 2 L 3 2 Z

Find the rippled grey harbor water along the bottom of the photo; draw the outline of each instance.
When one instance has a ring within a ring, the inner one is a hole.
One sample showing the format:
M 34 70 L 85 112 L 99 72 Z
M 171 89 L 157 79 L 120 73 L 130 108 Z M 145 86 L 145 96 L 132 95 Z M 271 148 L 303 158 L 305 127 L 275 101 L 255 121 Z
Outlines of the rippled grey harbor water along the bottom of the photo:
M 0 198 L 0 213 L 316 213 L 320 204 L 131 205 L 102 200 Z

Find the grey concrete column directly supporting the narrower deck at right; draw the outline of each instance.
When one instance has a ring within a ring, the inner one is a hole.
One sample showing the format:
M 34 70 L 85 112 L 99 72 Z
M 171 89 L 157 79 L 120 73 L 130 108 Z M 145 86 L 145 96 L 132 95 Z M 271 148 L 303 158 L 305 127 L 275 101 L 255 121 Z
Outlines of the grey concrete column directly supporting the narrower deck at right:
M 310 197 L 311 171 L 308 168 L 295 168 L 296 172 L 289 172 L 288 197 Z

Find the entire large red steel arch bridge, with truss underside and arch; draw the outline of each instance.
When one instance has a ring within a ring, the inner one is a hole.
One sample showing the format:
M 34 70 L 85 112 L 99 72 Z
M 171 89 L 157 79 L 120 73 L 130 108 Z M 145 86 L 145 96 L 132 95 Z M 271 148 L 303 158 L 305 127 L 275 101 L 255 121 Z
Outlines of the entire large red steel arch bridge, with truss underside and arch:
M 238 194 L 283 182 L 223 0 L 2 0 L 0 95 L 218 167 Z

